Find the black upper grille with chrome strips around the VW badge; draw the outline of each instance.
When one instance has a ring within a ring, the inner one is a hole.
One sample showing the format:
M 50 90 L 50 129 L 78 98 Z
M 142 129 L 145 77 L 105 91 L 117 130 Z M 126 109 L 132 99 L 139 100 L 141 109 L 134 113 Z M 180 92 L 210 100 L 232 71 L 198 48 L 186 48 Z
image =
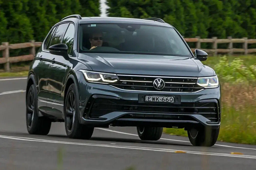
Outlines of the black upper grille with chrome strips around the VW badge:
M 195 77 L 151 77 L 118 75 L 118 78 L 120 80 L 119 83 L 111 84 L 111 86 L 123 90 L 191 93 L 204 89 L 203 87 L 196 84 L 197 78 Z M 164 80 L 165 87 L 162 90 L 157 90 L 153 87 L 153 81 L 156 78 L 161 78 Z

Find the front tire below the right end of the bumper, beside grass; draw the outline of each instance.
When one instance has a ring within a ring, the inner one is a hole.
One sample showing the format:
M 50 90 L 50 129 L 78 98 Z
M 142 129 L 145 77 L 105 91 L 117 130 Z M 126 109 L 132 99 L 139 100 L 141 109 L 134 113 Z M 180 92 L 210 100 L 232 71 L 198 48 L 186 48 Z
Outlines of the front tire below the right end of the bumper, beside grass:
M 190 143 L 193 146 L 214 146 L 219 136 L 220 128 L 218 129 L 189 129 L 187 131 Z

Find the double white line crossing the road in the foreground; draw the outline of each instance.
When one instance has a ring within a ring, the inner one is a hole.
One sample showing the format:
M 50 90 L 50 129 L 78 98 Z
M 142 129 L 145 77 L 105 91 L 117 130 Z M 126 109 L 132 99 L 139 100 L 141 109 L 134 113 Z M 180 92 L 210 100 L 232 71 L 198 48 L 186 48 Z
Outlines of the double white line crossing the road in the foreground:
M 23 141 L 34 141 L 34 142 L 62 143 L 62 144 L 70 144 L 70 145 L 99 146 L 99 147 L 109 147 L 109 148 L 136 149 L 136 150 L 171 152 L 171 153 L 174 153 L 175 151 L 177 151 L 175 149 L 148 148 L 148 147 L 122 146 L 122 145 L 113 146 L 113 145 L 104 145 L 104 144 L 65 142 L 65 141 L 25 138 L 25 137 L 17 137 L 17 136 L 4 136 L 4 135 L 0 135 L 0 138 L 23 140 Z M 253 155 L 232 155 L 232 154 L 228 154 L 228 153 L 198 152 L 198 151 L 185 151 L 185 150 L 183 152 L 190 153 L 190 154 L 199 154 L 199 155 L 212 155 L 212 156 L 226 156 L 226 157 L 256 159 L 256 156 L 253 156 Z

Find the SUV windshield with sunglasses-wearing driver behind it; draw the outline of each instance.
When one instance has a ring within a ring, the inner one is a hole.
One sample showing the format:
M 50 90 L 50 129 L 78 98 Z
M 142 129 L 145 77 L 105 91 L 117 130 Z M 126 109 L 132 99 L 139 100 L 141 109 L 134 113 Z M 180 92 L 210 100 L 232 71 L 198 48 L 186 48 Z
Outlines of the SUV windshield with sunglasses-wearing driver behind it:
M 82 53 L 193 57 L 172 27 L 124 23 L 81 24 L 79 42 Z

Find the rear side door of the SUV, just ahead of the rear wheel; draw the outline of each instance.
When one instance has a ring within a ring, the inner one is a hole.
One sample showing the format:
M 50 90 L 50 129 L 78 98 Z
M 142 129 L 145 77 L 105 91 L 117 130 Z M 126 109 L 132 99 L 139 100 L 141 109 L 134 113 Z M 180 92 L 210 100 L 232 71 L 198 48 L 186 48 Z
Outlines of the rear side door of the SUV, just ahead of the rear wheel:
M 56 27 L 53 27 L 45 41 L 42 43 L 41 48 L 39 49 L 38 53 L 35 56 L 35 61 L 33 63 L 33 71 L 35 75 L 35 79 L 38 85 L 38 109 L 43 113 L 47 113 L 47 94 L 49 93 L 48 89 L 48 78 L 50 75 L 49 67 L 51 65 L 51 56 L 48 52 L 45 51 L 47 48 L 52 35 L 54 34 Z

